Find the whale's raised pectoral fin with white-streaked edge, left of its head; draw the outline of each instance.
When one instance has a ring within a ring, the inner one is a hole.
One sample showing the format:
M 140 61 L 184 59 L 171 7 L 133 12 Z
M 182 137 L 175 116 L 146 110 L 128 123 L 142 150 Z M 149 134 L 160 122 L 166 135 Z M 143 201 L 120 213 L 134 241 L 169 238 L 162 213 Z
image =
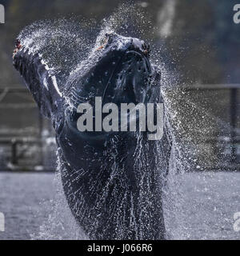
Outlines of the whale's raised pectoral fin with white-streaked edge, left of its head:
M 62 108 L 62 93 L 53 70 L 41 54 L 32 53 L 18 44 L 14 50 L 14 67 L 22 75 L 42 114 L 47 118 Z

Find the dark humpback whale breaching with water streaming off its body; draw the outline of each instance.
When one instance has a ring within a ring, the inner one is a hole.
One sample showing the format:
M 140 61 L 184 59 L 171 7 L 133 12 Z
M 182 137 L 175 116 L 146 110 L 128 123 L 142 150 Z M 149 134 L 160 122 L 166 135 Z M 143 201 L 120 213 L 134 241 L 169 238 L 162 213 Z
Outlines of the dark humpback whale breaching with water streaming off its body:
M 150 62 L 150 47 L 138 38 L 106 34 L 103 46 L 62 79 L 34 42 L 25 46 L 20 40 L 14 67 L 54 126 L 62 186 L 79 226 L 90 239 L 165 239 L 162 186 L 171 150 L 166 128 L 161 141 L 138 130 L 77 129 L 78 105 L 94 105 L 95 97 L 117 106 L 162 102 L 161 72 Z

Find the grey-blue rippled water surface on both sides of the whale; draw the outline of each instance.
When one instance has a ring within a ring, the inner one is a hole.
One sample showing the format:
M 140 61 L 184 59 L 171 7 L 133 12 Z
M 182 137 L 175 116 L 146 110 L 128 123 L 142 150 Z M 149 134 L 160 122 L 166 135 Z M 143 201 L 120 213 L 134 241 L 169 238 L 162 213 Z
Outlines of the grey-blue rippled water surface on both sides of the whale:
M 59 200 L 54 174 L 0 173 L 0 211 L 6 231 L 0 239 L 80 239 L 67 206 Z M 240 211 L 240 173 L 182 175 L 180 226 L 168 231 L 177 239 L 239 239 L 233 228 Z M 58 214 L 56 214 L 58 211 Z M 59 213 L 61 211 L 61 213 Z M 168 213 L 168 222 L 170 222 Z

